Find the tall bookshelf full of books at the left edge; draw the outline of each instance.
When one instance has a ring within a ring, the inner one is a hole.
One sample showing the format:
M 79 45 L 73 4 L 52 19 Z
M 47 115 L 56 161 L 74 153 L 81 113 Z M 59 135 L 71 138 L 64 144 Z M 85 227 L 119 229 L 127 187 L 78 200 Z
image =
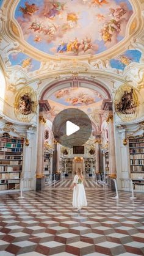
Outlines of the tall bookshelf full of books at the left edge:
M 23 139 L 0 135 L 0 191 L 20 189 L 23 170 Z

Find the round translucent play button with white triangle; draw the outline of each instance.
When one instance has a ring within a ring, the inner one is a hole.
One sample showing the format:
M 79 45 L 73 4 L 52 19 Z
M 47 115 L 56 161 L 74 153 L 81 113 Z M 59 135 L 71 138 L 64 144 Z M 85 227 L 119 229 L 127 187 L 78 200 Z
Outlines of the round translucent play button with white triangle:
M 56 141 L 64 147 L 81 146 L 92 133 L 92 123 L 84 111 L 67 108 L 54 118 L 52 133 Z

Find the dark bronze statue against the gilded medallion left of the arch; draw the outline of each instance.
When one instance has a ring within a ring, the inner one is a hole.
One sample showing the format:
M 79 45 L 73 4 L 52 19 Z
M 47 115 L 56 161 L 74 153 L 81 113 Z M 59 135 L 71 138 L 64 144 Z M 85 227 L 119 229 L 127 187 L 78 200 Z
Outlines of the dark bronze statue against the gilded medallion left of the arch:
M 20 97 L 18 109 L 23 115 L 31 114 L 33 112 L 32 104 L 34 104 L 34 101 L 29 97 L 29 93 L 25 93 Z

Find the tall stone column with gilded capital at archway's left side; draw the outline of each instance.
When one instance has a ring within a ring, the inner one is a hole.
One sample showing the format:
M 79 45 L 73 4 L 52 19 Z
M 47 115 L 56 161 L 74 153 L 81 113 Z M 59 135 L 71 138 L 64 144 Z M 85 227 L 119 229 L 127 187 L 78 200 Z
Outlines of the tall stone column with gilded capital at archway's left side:
M 39 124 L 38 124 L 38 150 L 37 150 L 37 170 L 36 170 L 36 190 L 41 190 L 45 187 L 45 175 L 43 174 L 43 163 L 44 163 L 44 125 L 46 123 L 43 113 L 40 112 Z

